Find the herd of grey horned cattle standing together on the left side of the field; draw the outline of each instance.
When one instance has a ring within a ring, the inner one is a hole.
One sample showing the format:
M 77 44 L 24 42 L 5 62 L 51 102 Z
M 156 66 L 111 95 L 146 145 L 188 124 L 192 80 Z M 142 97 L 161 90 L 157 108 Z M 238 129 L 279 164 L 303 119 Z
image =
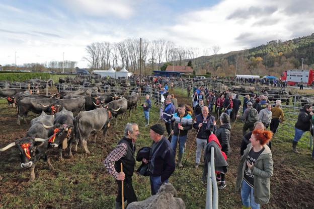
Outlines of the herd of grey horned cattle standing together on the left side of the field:
M 87 148 L 90 135 L 94 134 L 96 140 L 97 131 L 103 129 L 106 140 L 110 121 L 115 119 L 116 123 L 118 115 L 126 118 L 127 110 L 129 114 L 132 109 L 136 110 L 138 102 L 137 92 L 131 92 L 129 96 L 118 96 L 90 89 L 45 96 L 30 94 L 25 89 L 11 88 L 0 89 L 0 96 L 16 106 L 18 125 L 22 119 L 27 123 L 29 111 L 40 114 L 32 119 L 25 137 L 0 149 L 0 152 L 4 152 L 15 147 L 19 151 L 21 167 L 31 168 L 30 180 L 35 179 L 35 163 L 41 157 L 53 169 L 49 160 L 51 149 L 58 148 L 59 159 L 62 160 L 63 149 L 67 148 L 68 156 L 72 157 L 72 145 L 75 146 L 74 151 L 77 151 L 77 144 L 81 142 L 86 153 L 90 154 Z

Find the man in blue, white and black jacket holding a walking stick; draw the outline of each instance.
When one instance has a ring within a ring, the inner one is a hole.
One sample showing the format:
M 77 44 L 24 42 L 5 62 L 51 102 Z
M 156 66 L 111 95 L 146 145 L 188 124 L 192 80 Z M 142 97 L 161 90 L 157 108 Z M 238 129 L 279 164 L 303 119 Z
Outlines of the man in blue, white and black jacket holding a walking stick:
M 182 168 L 182 157 L 185 150 L 185 143 L 188 137 L 188 130 L 191 130 L 193 126 L 193 119 L 186 111 L 185 105 L 180 104 L 178 106 L 178 113 L 173 114 L 171 120 L 175 123 L 174 129 L 172 130 L 171 148 L 176 153 L 177 142 L 179 142 L 178 165 Z

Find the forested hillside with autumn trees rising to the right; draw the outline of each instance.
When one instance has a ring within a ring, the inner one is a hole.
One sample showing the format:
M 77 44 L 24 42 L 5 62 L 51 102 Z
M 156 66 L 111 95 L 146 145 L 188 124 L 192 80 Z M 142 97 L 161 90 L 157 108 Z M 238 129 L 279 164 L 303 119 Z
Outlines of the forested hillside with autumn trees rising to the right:
M 269 41 L 251 49 L 192 59 L 196 74 L 210 72 L 227 76 L 236 74 L 281 75 L 290 68 L 314 67 L 314 33 L 288 41 Z M 187 60 L 188 61 L 188 60 Z

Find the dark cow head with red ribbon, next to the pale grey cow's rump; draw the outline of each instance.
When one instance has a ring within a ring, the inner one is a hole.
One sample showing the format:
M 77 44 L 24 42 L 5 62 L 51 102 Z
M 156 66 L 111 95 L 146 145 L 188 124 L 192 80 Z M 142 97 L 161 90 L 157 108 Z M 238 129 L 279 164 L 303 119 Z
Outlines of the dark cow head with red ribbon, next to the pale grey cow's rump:
M 73 125 L 60 125 L 53 130 L 53 134 L 48 138 L 49 146 L 57 148 L 64 140 L 71 137 Z

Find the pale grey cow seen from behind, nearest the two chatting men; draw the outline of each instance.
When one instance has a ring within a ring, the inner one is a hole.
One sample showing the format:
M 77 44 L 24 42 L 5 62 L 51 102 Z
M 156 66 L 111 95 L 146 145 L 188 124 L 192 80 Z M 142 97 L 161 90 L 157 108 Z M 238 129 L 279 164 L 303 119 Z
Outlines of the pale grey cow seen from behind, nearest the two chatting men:
M 119 109 L 98 108 L 95 110 L 80 112 L 74 118 L 74 132 L 75 132 L 75 148 L 77 151 L 78 140 L 81 141 L 85 152 L 90 155 L 91 152 L 87 148 L 87 141 L 91 133 L 94 133 L 94 141 L 96 141 L 96 132 L 103 129 L 105 142 L 107 142 L 107 129 L 112 119 L 112 112 L 117 112 Z

